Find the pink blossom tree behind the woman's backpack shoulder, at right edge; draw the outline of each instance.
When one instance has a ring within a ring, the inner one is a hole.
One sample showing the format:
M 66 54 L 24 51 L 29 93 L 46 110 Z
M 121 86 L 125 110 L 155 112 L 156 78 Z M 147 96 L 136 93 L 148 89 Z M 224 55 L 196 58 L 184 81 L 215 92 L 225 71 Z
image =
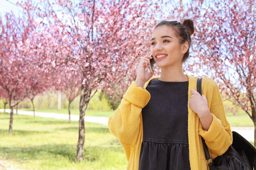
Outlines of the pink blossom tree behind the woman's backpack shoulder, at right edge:
M 256 6 L 249 1 L 193 1 L 194 46 L 202 67 L 254 123 L 256 145 Z M 206 67 L 205 67 L 206 66 Z M 209 71 L 211 70 L 211 71 Z

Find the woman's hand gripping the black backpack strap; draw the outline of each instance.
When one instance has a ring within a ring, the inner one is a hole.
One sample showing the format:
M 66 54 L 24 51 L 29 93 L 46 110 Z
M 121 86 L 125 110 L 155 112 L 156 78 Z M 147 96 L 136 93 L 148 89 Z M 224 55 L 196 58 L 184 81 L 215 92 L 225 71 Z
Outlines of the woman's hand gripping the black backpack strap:
M 200 95 L 199 92 L 191 90 L 191 97 L 189 99 L 189 107 L 197 114 L 204 130 L 208 130 L 212 124 L 212 114 L 208 108 L 208 101 L 205 95 Z

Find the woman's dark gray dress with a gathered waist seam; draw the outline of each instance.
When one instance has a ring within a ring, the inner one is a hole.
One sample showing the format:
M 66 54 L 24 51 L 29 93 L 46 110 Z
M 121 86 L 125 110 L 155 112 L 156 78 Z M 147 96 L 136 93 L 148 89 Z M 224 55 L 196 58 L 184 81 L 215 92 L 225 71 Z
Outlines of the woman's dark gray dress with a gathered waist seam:
M 188 82 L 151 80 L 151 98 L 142 109 L 140 170 L 190 169 Z

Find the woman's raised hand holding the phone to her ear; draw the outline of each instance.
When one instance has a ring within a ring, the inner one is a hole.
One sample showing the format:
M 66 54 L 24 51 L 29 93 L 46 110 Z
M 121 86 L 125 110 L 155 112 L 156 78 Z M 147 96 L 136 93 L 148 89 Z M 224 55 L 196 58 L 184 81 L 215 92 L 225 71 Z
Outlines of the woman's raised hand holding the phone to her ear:
M 135 80 L 135 83 L 137 83 L 138 87 L 143 88 L 144 84 L 154 74 L 154 70 L 152 71 L 152 73 L 150 73 L 150 71 L 148 69 L 148 65 L 150 65 L 151 58 L 152 57 L 150 57 L 150 56 L 146 56 L 146 57 L 143 57 L 141 59 L 141 61 L 139 62 L 139 65 L 137 67 L 137 76 L 136 76 L 136 80 Z

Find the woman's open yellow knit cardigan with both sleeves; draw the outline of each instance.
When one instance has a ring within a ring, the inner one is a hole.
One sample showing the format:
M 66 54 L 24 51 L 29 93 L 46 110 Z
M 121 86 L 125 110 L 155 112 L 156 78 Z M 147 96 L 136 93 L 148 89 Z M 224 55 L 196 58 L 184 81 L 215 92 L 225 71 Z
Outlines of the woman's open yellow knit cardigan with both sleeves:
M 189 75 L 187 77 L 189 99 L 192 95 L 191 89 L 196 90 L 197 77 Z M 125 150 L 128 160 L 127 169 L 137 170 L 139 168 L 139 155 L 143 139 L 141 111 L 150 100 L 150 93 L 146 90 L 150 80 L 145 83 L 144 88 L 138 87 L 135 82 L 132 82 L 118 109 L 109 117 L 110 132 L 119 139 Z M 192 170 L 209 169 L 201 137 L 205 139 L 213 159 L 224 154 L 233 141 L 217 84 L 212 79 L 203 78 L 202 94 L 207 97 L 213 121 L 208 131 L 203 130 L 199 117 L 188 105 L 189 162 Z

